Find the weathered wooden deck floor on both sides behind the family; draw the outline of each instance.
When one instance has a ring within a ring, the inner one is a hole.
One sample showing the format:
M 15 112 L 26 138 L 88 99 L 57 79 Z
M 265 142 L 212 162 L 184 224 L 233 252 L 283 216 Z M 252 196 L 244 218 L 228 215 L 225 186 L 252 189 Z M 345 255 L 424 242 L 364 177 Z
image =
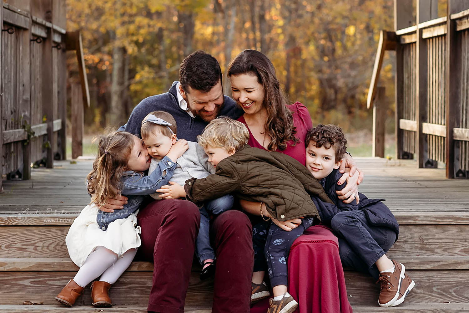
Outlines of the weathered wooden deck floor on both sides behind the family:
M 365 172 L 360 192 L 369 198 L 386 199 L 397 215 L 469 212 L 469 180 L 446 179 L 444 168 L 416 168 L 415 160 L 356 158 L 356 162 Z M 4 181 L 0 213 L 78 214 L 90 200 L 84 182 L 92 161 L 54 164 L 53 169 L 33 168 L 29 181 Z

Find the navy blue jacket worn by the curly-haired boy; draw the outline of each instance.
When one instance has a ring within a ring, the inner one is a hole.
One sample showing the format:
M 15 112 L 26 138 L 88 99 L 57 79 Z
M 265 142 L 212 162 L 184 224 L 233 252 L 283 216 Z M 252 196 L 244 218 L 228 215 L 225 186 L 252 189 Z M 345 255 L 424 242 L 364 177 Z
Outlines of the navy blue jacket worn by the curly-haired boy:
M 330 225 L 334 215 L 339 212 L 362 210 L 365 212 L 366 219 L 371 225 L 393 229 L 396 233 L 397 240 L 399 235 L 399 223 L 396 221 L 391 210 L 381 202 L 384 201 L 384 199 L 369 199 L 363 193 L 358 193 L 360 197 L 360 203 L 358 205 L 355 200 L 351 203 L 343 203 L 335 192 L 342 190 L 347 184 L 343 183 L 342 185 L 338 185 L 337 182 L 340 177 L 342 177 L 342 174 L 340 174 L 338 169 L 334 169 L 329 176 L 321 180 L 325 193 L 334 204 L 323 202 L 314 196 L 311 197 L 318 208 L 321 221 Z

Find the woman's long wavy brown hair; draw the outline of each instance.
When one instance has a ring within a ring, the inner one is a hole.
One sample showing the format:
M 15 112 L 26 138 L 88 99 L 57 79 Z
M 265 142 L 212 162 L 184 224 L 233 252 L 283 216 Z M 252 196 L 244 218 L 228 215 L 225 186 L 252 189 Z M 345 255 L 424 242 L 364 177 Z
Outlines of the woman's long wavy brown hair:
M 228 65 L 228 77 L 240 74 L 257 76 L 257 81 L 264 87 L 265 96 L 262 105 L 267 111 L 264 129 L 272 139 L 267 150 L 272 151 L 276 147 L 284 150 L 289 141 L 293 142 L 291 145 L 296 145 L 300 140 L 295 137 L 293 115 L 286 107 L 287 99 L 280 88 L 275 68 L 269 58 L 257 50 L 244 50 Z

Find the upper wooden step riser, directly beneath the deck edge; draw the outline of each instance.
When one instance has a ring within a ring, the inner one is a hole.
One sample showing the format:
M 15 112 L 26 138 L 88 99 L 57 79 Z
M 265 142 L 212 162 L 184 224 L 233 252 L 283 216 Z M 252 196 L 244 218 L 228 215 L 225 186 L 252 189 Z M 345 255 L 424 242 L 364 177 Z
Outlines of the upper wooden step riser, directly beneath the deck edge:
M 68 226 L 0 226 L 0 258 L 67 258 Z M 469 257 L 469 225 L 401 225 L 390 255 Z

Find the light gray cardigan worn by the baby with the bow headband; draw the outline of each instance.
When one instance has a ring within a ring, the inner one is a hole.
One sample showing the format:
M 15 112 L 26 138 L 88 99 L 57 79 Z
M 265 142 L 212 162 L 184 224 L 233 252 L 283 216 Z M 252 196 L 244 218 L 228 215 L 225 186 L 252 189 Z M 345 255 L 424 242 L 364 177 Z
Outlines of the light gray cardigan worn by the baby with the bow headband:
M 173 177 L 169 180 L 176 182 L 181 186 L 184 186 L 186 180 L 191 178 L 205 178 L 210 174 L 215 173 L 215 167 L 208 161 L 208 156 L 197 142 L 188 141 L 189 149 L 177 159 L 176 168 L 174 169 Z M 159 160 L 151 159 L 150 169 L 148 174 L 150 175 L 157 167 Z M 159 192 L 153 193 L 150 196 L 161 200 L 159 198 Z

